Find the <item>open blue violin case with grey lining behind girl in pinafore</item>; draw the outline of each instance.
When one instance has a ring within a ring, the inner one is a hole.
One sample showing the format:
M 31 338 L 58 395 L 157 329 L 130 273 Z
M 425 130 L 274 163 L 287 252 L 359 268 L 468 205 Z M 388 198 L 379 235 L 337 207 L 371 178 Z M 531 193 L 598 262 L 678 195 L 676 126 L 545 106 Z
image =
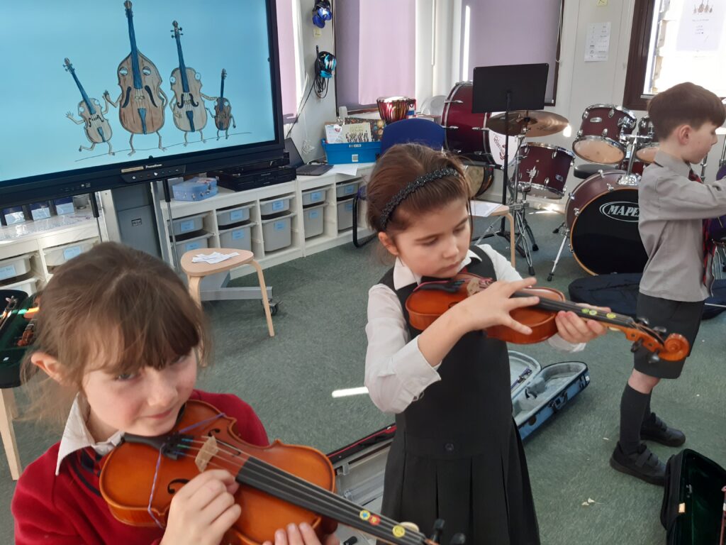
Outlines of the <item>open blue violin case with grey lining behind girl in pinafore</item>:
M 540 366 L 521 352 L 509 352 L 512 408 L 522 439 L 555 416 L 566 403 L 590 384 L 587 365 L 563 361 Z M 335 469 L 335 490 L 340 496 L 372 512 L 380 512 L 383 472 L 396 425 L 378 430 L 327 456 Z M 420 528 L 428 533 L 431 528 Z M 343 545 L 367 544 L 375 540 L 358 530 L 339 525 L 336 535 Z M 356 541 L 348 541 L 356 538 Z

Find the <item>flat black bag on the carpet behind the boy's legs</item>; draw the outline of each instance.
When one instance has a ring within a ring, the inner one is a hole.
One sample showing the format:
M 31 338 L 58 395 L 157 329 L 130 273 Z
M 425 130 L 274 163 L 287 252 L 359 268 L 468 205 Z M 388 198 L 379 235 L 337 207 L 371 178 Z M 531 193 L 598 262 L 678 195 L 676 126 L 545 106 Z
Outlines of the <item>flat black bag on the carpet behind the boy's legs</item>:
M 636 318 L 637 294 L 641 273 L 587 276 L 574 280 L 569 286 L 570 299 L 576 303 L 610 307 L 613 312 Z M 726 280 L 716 280 L 711 287 L 714 295 L 706 303 L 726 307 Z M 714 318 L 726 310 L 723 307 L 703 307 L 703 320 Z

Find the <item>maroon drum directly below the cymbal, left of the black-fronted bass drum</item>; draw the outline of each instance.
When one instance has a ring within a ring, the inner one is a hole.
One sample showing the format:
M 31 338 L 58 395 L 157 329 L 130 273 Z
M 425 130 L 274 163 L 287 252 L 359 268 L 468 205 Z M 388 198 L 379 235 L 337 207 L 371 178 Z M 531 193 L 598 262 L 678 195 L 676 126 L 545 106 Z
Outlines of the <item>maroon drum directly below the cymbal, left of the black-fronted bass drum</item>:
M 529 142 L 519 148 L 517 181 L 529 195 L 562 198 L 574 154 L 570 150 Z

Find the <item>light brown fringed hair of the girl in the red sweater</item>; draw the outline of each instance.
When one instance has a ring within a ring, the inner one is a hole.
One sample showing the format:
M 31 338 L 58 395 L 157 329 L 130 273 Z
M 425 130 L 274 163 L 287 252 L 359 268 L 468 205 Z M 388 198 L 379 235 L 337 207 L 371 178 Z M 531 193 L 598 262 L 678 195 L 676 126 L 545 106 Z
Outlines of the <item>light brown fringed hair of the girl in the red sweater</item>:
M 207 341 L 203 312 L 171 267 L 106 242 L 54 271 L 41 294 L 36 341 L 21 376 L 28 382 L 36 374 L 30 358 L 44 352 L 60 363 L 62 387 L 75 395 L 89 370 L 121 375 L 160 369 L 197 347 L 204 365 Z M 38 384 L 34 416 L 65 418 L 60 406 L 68 398 L 48 395 L 52 382 Z

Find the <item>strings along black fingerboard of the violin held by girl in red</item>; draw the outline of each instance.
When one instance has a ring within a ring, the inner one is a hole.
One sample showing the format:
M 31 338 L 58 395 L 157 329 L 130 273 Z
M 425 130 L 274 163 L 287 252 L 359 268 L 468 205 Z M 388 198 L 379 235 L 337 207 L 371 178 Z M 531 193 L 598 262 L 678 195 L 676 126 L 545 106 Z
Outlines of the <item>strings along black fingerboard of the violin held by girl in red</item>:
M 192 440 L 191 443 L 203 444 L 205 441 Z M 200 450 L 201 448 L 190 448 L 185 446 L 184 452 L 179 451 L 179 454 L 181 454 L 181 456 L 192 458 L 193 455 L 190 451 Z M 247 455 L 247 461 L 242 461 L 240 463 L 240 461 L 236 459 L 236 454 L 231 453 L 224 448 L 220 448 L 219 451 L 227 456 L 232 456 L 232 459 L 225 459 L 223 456 L 219 456 L 219 454 L 214 455 L 213 458 L 231 464 L 237 472 L 247 466 L 248 471 L 245 472 L 245 476 L 258 477 L 257 479 L 245 479 L 245 483 L 249 483 L 250 485 L 255 486 L 255 488 L 261 488 L 261 490 L 266 492 L 271 490 L 278 491 L 282 493 L 282 495 L 286 496 L 285 499 L 287 501 L 290 501 L 290 503 L 293 504 L 299 504 L 299 501 L 296 501 L 296 499 L 299 497 L 298 494 L 300 492 L 307 493 L 307 496 L 309 496 L 311 501 L 314 501 L 314 504 L 327 506 L 330 509 L 330 512 L 334 514 L 334 518 L 339 522 L 360 528 L 364 532 L 372 533 L 372 535 L 383 539 L 397 539 L 398 541 L 396 541 L 396 543 L 413 545 L 420 544 L 423 540 L 425 540 L 425 536 L 423 536 L 423 534 L 412 532 L 412 530 L 409 529 L 406 530 L 406 534 L 403 538 L 395 538 L 392 533 L 393 527 L 398 525 L 398 522 L 395 520 L 373 513 L 378 517 L 380 523 L 378 525 L 372 525 L 370 523 L 367 524 L 360 518 L 361 511 L 367 511 L 367 509 L 346 500 L 342 496 L 338 496 L 338 494 L 319 487 L 314 483 L 309 483 L 308 481 L 301 479 L 301 477 L 287 473 L 280 468 L 272 466 L 271 464 L 267 464 L 265 461 L 258 459 L 255 456 Z M 248 462 L 250 463 L 249 465 Z M 229 469 L 229 467 L 225 467 L 223 464 L 215 463 L 213 461 L 210 461 L 209 463 L 214 464 L 217 467 Z M 282 489 L 280 488 L 281 485 L 283 487 Z M 312 507 L 311 510 L 315 511 L 314 507 Z M 380 535 L 377 535 L 379 533 Z

